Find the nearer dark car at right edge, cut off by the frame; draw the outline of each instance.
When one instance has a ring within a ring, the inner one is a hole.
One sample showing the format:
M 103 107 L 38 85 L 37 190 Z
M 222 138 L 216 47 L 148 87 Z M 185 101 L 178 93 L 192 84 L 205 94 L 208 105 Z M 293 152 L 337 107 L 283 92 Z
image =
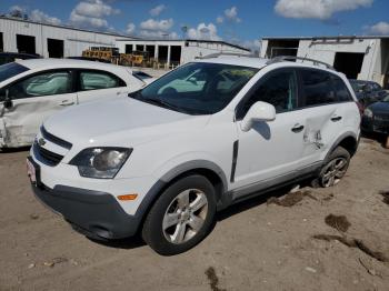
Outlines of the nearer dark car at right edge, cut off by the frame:
M 365 109 L 361 128 L 365 132 L 389 134 L 389 96 Z

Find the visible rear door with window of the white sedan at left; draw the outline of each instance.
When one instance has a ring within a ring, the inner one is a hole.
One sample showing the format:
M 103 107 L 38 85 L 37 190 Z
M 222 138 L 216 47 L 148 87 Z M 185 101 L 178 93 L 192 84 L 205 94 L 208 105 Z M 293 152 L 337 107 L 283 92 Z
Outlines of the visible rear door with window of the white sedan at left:
M 102 70 L 78 71 L 78 103 L 127 97 L 128 84 L 118 76 Z

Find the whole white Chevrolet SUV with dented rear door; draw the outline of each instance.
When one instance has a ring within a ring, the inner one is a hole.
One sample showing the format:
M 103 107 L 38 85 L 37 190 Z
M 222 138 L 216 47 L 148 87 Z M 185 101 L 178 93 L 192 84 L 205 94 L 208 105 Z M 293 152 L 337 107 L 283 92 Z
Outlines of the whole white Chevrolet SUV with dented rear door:
M 51 117 L 28 173 L 36 195 L 82 233 L 140 231 L 176 254 L 232 203 L 302 179 L 338 183 L 358 147 L 356 101 L 346 77 L 318 63 L 206 58 L 128 99 Z

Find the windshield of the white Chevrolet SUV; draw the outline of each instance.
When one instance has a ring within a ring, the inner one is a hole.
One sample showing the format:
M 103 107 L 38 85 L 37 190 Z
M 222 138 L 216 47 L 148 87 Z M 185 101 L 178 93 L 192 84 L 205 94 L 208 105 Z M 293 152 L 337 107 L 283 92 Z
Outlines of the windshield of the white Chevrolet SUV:
M 188 114 L 213 114 L 223 109 L 258 69 L 194 62 L 159 78 L 130 97 Z

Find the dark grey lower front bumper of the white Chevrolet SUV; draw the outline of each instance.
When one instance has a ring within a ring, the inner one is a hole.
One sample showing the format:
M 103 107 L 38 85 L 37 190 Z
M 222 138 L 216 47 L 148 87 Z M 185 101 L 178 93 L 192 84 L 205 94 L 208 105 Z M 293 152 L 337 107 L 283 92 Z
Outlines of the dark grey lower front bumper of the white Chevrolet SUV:
M 109 193 L 42 183 L 32 185 L 34 194 L 76 230 L 93 238 L 122 239 L 136 234 L 141 219 L 127 214 Z

